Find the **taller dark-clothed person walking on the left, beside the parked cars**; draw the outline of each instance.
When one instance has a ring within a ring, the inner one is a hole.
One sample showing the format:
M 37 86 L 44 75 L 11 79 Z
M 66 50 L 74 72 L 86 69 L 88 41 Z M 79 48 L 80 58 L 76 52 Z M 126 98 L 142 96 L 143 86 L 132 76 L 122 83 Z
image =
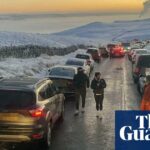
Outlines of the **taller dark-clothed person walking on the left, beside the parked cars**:
M 89 88 L 89 77 L 84 73 L 83 68 L 78 68 L 78 73 L 74 76 L 73 84 L 75 86 L 76 91 L 76 111 L 75 116 L 79 114 L 79 103 L 80 97 L 82 98 L 82 110 L 81 112 L 84 113 L 85 110 L 85 99 L 86 99 L 86 88 Z

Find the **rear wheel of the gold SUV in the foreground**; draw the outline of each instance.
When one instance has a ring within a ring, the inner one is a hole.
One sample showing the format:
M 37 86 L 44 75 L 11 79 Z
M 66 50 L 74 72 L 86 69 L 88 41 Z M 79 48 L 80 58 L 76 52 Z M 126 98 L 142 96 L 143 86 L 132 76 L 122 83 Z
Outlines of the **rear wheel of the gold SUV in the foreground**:
M 50 148 L 51 146 L 51 136 L 52 133 L 51 133 L 51 124 L 48 123 L 47 124 L 47 130 L 46 130 L 46 133 L 44 135 L 44 138 L 42 140 L 40 140 L 39 144 L 40 144 L 40 147 L 42 148 Z

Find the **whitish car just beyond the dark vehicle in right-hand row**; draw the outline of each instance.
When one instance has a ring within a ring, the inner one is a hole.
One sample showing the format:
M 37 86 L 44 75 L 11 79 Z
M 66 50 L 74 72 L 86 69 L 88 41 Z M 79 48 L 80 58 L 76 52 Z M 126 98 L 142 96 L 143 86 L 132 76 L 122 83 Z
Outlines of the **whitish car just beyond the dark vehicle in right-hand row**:
M 148 51 L 146 49 L 135 49 L 131 55 L 131 61 L 135 62 L 137 56 L 141 55 L 141 54 L 147 54 Z

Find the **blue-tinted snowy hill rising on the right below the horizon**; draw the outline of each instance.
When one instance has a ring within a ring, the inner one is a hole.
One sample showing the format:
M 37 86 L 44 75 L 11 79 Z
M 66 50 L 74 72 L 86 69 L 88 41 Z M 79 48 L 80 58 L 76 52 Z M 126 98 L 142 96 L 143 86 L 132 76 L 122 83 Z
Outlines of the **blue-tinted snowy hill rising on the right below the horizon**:
M 110 24 L 95 22 L 76 29 L 56 33 L 57 36 L 78 37 L 94 41 L 94 43 L 107 43 L 107 41 L 120 41 L 132 39 L 150 39 L 150 19 L 135 21 L 116 21 Z

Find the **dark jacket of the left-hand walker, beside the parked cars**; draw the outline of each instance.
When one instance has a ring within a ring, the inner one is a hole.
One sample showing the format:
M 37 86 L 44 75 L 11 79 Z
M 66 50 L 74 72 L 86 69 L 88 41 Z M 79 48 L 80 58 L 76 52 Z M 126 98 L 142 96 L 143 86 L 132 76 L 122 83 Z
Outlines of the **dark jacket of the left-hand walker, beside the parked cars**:
M 73 84 L 76 89 L 86 89 L 89 88 L 89 78 L 85 73 L 78 73 L 74 76 Z

